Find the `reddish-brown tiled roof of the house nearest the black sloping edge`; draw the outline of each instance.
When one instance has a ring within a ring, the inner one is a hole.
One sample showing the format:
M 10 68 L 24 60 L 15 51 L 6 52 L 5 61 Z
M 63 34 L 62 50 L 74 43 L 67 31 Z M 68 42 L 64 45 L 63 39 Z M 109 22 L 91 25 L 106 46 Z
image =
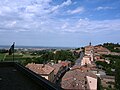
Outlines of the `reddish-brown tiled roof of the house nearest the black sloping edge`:
M 54 68 L 49 66 L 49 65 L 43 65 L 43 64 L 34 64 L 34 63 L 30 63 L 26 65 L 27 68 L 29 68 L 30 70 L 32 70 L 33 72 L 37 73 L 37 74 L 50 74 Z

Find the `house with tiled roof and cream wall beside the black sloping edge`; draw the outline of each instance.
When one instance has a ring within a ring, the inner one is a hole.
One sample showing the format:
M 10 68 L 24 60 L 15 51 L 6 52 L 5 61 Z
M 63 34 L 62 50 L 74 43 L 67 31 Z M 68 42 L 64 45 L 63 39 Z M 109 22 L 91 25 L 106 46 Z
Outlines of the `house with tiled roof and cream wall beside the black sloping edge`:
M 31 71 L 35 72 L 36 74 L 41 75 L 45 79 L 53 82 L 54 80 L 54 68 L 47 65 L 47 64 L 35 64 L 35 63 L 28 63 L 26 65 Z

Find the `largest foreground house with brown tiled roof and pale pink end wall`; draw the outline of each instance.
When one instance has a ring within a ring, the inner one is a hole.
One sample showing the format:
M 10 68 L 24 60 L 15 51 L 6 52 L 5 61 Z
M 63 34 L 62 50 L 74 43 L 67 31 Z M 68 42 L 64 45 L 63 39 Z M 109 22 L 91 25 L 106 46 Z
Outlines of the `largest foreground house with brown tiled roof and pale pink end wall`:
M 97 76 L 91 72 L 72 69 L 63 76 L 61 86 L 72 90 L 97 90 Z

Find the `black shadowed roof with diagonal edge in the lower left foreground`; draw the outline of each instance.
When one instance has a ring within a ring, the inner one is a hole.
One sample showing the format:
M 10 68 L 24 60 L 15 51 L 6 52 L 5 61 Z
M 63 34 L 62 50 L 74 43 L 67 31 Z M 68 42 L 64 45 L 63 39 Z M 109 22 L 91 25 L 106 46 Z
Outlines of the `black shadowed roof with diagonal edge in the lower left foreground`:
M 61 89 L 18 63 L 0 62 L 0 90 Z

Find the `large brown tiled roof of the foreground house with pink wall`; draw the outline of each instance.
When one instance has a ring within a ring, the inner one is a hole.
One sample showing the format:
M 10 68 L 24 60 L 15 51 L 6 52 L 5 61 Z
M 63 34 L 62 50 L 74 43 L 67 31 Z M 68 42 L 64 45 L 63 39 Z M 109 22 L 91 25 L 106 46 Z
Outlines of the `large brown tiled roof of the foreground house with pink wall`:
M 86 76 L 97 78 L 91 72 L 82 72 L 79 69 L 70 70 L 63 76 L 61 86 L 64 89 L 85 90 L 85 87 L 88 89 Z

